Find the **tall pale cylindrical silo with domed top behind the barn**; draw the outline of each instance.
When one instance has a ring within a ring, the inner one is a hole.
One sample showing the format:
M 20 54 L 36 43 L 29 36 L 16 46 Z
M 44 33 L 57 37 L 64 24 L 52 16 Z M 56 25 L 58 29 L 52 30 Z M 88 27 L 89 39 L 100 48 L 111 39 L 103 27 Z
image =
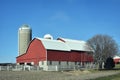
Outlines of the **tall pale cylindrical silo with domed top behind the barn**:
M 18 53 L 22 55 L 26 52 L 32 40 L 32 29 L 28 25 L 22 25 L 18 31 Z

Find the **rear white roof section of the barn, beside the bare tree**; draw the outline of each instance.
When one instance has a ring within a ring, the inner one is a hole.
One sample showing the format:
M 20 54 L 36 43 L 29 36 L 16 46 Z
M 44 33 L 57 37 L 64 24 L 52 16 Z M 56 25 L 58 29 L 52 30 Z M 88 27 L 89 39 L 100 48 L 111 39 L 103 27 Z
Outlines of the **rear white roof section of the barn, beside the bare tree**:
M 71 50 L 93 51 L 93 49 L 85 41 L 65 39 L 65 38 L 60 38 L 60 39 L 65 41 L 65 43 L 69 46 Z

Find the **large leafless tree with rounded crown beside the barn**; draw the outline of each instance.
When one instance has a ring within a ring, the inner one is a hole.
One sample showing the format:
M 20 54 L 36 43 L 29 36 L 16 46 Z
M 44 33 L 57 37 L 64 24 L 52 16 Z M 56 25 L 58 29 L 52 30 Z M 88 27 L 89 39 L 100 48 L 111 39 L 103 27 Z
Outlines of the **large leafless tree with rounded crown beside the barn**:
M 94 60 L 99 64 L 99 69 L 108 57 L 113 57 L 118 52 L 118 45 L 108 35 L 96 35 L 87 42 L 94 50 Z

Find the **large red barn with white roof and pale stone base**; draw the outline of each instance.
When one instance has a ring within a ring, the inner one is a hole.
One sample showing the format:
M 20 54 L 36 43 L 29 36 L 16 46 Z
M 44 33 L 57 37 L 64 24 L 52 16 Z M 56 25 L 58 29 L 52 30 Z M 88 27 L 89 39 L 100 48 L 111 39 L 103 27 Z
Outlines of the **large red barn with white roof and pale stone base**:
M 43 70 L 74 69 L 90 65 L 93 50 L 85 41 L 58 38 L 34 38 L 26 53 L 18 56 L 18 64 L 37 65 Z

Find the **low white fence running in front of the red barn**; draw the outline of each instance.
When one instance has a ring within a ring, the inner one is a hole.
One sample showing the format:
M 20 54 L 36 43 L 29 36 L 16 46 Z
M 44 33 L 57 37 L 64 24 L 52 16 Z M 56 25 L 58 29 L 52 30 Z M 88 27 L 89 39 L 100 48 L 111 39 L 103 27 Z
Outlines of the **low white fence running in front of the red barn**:
M 9 66 L 0 66 L 0 71 L 64 71 L 64 70 L 80 70 L 80 69 L 95 69 L 96 65 L 86 65 L 85 67 L 81 66 L 58 66 L 58 65 L 49 65 L 45 67 L 39 66 L 29 66 L 29 65 L 9 65 Z

